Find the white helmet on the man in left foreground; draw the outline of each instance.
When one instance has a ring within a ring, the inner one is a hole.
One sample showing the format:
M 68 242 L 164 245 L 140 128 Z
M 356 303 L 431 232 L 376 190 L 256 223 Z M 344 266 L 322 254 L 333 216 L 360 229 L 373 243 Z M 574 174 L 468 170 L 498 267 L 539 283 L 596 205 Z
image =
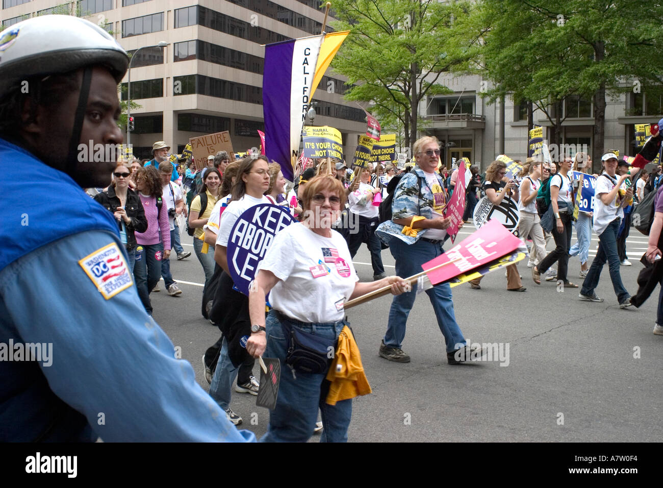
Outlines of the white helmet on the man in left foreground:
M 107 66 L 119 83 L 129 57 L 109 33 L 79 17 L 42 15 L 0 33 L 0 94 L 32 76 L 96 64 Z

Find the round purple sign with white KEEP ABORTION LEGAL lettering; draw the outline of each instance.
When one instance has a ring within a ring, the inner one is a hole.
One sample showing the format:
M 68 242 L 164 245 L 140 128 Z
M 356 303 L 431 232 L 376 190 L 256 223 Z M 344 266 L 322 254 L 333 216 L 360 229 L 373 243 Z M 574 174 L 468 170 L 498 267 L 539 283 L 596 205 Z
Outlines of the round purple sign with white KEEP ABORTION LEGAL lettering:
M 227 260 L 235 287 L 249 295 L 249 284 L 258 263 L 283 228 L 296 222 L 288 208 L 261 203 L 241 214 L 228 239 Z

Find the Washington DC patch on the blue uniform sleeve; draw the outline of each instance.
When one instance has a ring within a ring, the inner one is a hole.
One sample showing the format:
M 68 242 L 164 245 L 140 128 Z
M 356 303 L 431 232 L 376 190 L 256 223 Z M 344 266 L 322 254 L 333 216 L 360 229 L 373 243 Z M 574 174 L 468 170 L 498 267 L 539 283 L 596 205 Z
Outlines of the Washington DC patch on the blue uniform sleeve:
M 105 299 L 133 285 L 129 266 L 117 244 L 108 244 L 78 262 Z

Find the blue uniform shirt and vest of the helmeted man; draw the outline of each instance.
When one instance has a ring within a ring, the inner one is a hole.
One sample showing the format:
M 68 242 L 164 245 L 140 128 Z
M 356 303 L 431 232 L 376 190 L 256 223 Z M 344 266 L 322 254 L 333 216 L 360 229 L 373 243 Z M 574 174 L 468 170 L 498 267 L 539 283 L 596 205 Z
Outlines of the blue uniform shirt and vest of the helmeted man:
M 145 312 L 111 214 L 3 139 L 0 161 L 0 442 L 255 440 Z

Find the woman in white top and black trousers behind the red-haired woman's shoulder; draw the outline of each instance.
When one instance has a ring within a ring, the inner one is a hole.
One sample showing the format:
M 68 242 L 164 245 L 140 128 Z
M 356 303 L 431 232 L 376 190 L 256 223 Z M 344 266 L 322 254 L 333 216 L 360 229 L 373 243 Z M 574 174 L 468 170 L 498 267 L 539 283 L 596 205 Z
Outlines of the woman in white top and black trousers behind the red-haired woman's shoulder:
M 354 226 L 347 235 L 347 247 L 350 256 L 355 257 L 359 246 L 363 242 L 371 252 L 371 265 L 373 266 L 373 280 L 385 278 L 385 267 L 382 264 L 382 246 L 380 238 L 375 235 L 375 229 L 380 224 L 379 208 L 373 204 L 375 195 L 380 193 L 379 188 L 369 184 L 371 173 L 367 169 L 359 169 L 359 187 L 348 195 L 350 204 L 350 218 Z

